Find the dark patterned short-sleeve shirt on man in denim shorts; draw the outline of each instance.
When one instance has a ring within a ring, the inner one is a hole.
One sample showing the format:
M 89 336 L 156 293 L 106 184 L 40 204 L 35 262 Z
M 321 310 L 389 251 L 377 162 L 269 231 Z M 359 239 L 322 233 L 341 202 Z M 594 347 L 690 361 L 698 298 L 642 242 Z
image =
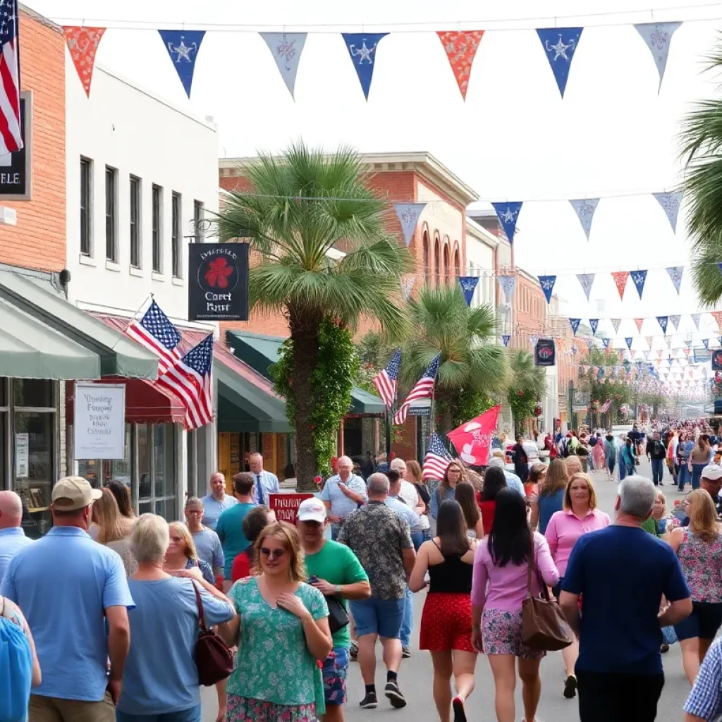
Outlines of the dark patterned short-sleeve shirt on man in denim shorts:
M 406 592 L 404 549 L 413 549 L 409 524 L 383 502 L 371 501 L 344 522 L 337 541 L 356 554 L 375 599 L 401 599 Z

